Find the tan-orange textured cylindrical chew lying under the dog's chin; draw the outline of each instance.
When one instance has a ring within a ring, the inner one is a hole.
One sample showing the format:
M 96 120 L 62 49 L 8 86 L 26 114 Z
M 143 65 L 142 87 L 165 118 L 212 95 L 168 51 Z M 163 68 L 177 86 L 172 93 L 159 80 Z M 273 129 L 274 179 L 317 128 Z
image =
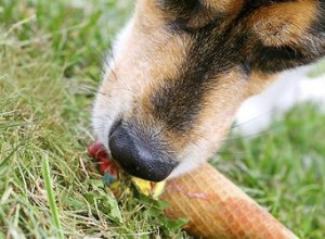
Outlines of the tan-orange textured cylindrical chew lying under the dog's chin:
M 297 238 L 238 187 L 209 164 L 167 181 L 166 214 L 187 217 L 188 232 L 204 238 Z

